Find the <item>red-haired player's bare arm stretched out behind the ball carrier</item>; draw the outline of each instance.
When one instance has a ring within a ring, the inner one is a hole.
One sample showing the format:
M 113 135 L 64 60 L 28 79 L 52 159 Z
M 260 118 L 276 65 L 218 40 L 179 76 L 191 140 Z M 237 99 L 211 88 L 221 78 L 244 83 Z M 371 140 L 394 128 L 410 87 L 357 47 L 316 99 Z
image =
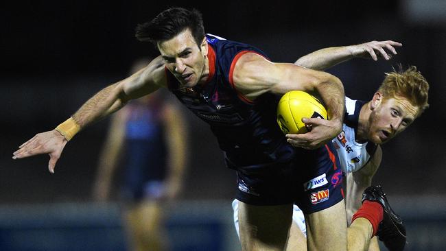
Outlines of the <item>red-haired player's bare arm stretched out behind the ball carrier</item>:
M 387 40 L 371 41 L 360 45 L 329 47 L 309 53 L 299 58 L 294 64 L 322 71 L 352 58 L 372 58 L 376 61 L 378 57 L 381 57 L 390 60 L 392 54 L 397 54 L 395 47 L 401 46 L 401 43 Z

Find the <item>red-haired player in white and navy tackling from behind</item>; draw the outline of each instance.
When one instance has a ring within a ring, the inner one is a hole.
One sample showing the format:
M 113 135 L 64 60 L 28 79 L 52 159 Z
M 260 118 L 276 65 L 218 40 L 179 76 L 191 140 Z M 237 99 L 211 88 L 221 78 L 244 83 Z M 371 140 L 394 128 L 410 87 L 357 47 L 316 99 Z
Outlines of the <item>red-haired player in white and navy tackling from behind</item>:
M 388 40 L 325 48 L 309 53 L 295 63 L 310 69 L 325 70 L 352 58 L 377 60 L 378 56 L 381 56 L 389 60 L 392 58 L 391 53 L 397 53 L 396 46 L 401 44 Z M 340 157 L 342 172 L 347 176 L 347 186 L 344 184 L 344 187 L 347 190 L 349 250 L 379 250 L 375 235 L 384 241 L 389 250 L 403 250 L 405 246 L 406 230 L 401 219 L 390 208 L 381 187 L 370 186 L 382 160 L 379 145 L 405 130 L 421 115 L 429 106 L 428 90 L 429 84 L 423 75 L 416 67 L 409 67 L 406 71 L 400 69 L 386 73 L 384 81 L 370 101 L 357 101 L 346 97 L 343 130 L 333 139 L 333 144 Z M 308 119 L 306 123 L 317 125 L 317 119 Z M 288 142 L 296 143 L 293 136 L 287 137 Z M 303 185 L 312 183 L 311 189 L 316 189 L 317 192 L 320 179 L 322 178 L 316 177 Z M 233 208 L 236 228 L 237 206 L 235 200 Z M 305 231 L 305 217 L 300 209 L 294 206 L 287 250 L 307 249 Z

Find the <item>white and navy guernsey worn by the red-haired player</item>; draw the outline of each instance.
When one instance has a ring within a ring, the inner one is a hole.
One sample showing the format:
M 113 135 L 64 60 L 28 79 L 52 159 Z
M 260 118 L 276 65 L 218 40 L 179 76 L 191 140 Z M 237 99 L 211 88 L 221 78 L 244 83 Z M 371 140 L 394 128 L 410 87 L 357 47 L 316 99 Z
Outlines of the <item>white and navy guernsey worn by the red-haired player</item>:
M 345 97 L 346 112 L 342 132 L 332 141 L 338 152 L 344 173 L 358 171 L 364 167 L 377 149 L 375 143 L 369 141 L 357 143 L 355 140 L 357 123 L 359 121 L 361 108 L 364 104 L 366 102 Z

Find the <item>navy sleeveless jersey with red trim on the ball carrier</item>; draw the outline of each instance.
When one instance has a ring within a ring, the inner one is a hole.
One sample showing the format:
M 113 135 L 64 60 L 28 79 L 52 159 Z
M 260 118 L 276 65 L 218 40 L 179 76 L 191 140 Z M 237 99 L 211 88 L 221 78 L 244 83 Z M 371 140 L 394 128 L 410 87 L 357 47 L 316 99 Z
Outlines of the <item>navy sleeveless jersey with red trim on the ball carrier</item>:
M 268 165 L 290 160 L 294 148 L 285 140 L 276 122 L 279 95 L 266 93 L 251 102 L 237 92 L 233 69 L 238 58 L 259 49 L 207 35 L 209 79 L 203 86 L 181 88 L 166 69 L 169 90 L 200 119 L 211 126 L 232 169 Z

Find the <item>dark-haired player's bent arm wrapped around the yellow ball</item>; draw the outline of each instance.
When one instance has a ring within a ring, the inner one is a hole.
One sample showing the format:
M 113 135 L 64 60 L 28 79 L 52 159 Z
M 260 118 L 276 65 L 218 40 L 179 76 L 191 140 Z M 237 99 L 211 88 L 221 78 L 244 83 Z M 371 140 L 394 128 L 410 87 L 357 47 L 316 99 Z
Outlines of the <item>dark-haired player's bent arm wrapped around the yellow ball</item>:
M 304 123 L 313 125 L 313 130 L 305 134 L 288 134 L 288 142 L 295 147 L 320 147 L 342 129 L 344 87 L 338 77 L 329 73 L 295 64 L 274 63 L 256 53 L 246 53 L 235 64 L 233 84 L 237 91 L 250 100 L 267 92 L 284 94 L 293 90 L 320 95 L 327 107 L 329 120 L 303 119 Z

